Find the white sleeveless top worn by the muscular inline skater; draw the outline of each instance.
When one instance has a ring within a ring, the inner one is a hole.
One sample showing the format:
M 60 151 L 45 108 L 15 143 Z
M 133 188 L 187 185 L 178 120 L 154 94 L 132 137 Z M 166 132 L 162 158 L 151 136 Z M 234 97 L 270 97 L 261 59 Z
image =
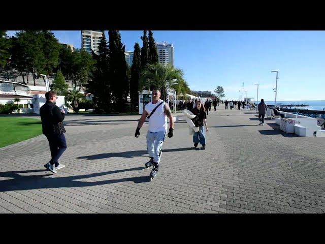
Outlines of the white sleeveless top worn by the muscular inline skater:
M 158 102 L 155 104 L 152 104 L 152 102 L 148 103 L 145 106 L 145 110 L 147 111 L 148 115 L 161 102 L 163 102 L 163 100 L 159 99 Z M 154 113 L 150 116 L 148 128 L 149 131 L 167 131 L 167 116 L 164 113 L 165 104 L 167 103 L 164 102 L 163 104 L 160 104 L 159 107 L 157 107 L 156 111 L 154 111 Z

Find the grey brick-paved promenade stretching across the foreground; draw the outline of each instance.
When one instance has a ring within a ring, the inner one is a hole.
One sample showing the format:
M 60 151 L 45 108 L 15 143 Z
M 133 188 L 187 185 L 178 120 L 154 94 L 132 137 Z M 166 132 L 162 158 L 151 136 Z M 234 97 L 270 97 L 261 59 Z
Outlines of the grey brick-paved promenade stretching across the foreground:
M 324 213 L 325 139 L 258 126 L 254 111 L 208 115 L 206 150 L 183 121 L 150 169 L 140 115 L 66 116 L 66 167 L 52 174 L 44 135 L 0 148 L 1 213 Z

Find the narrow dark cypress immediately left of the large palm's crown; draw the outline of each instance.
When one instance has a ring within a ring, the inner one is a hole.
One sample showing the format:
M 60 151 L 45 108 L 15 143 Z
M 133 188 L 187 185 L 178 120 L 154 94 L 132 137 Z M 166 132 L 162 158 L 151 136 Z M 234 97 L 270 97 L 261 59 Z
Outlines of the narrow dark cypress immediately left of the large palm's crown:
M 134 106 L 139 104 L 139 78 L 141 75 L 141 55 L 140 55 L 140 45 L 136 43 L 134 45 L 133 53 L 133 63 L 131 66 L 131 81 L 130 81 L 130 98 L 131 103 Z

